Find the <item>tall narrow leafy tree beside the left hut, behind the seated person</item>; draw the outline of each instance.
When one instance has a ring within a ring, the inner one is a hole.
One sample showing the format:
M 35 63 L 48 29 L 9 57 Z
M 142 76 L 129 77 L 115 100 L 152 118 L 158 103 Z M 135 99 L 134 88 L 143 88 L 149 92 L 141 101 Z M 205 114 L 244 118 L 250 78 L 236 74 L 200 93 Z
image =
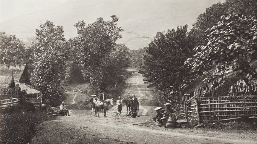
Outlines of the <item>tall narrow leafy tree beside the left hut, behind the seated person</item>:
M 56 99 L 63 92 L 61 78 L 65 72 L 65 60 L 69 57 L 63 33 L 62 26 L 55 27 L 53 22 L 47 20 L 36 30 L 31 45 L 34 84 L 42 91 L 43 99 Z

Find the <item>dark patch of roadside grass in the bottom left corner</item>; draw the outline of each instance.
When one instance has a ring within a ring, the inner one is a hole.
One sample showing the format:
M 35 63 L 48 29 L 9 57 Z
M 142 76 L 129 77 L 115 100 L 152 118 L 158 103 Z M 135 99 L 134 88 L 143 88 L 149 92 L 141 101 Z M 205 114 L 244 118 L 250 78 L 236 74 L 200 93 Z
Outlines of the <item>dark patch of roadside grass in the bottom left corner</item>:
M 46 112 L 24 104 L 9 107 L 0 112 L 0 142 L 3 144 L 27 144 L 36 132 L 36 126 L 47 117 Z

